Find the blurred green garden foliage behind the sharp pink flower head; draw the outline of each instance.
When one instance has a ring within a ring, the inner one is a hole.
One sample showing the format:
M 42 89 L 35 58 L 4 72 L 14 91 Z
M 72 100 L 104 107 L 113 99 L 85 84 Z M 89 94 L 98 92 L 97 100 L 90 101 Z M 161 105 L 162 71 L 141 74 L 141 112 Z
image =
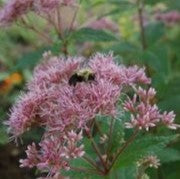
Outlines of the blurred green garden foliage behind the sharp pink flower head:
M 180 123 L 180 25 L 168 25 L 155 19 L 157 11 L 180 11 L 180 1 L 144 0 L 144 4 L 146 48 L 143 48 L 141 44 L 138 7 L 135 0 L 84 0 L 78 12 L 76 28 L 70 36 L 66 37 L 69 54 L 89 57 L 97 51 L 103 53 L 112 51 L 118 63 L 146 66 L 147 73 L 152 78 L 152 85 L 158 92 L 156 99 L 158 105 L 162 110 L 174 110 L 177 115 L 176 121 Z M 67 13 L 69 12 L 64 11 L 64 16 Z M 111 19 L 116 24 L 116 30 L 88 28 L 89 22 L 102 17 Z M 16 23 L 10 27 L 0 28 L 1 155 L 4 155 L 2 151 L 4 149 L 11 152 L 9 155 L 21 155 L 19 151 L 16 151 L 17 148 L 13 150 L 11 147 L 11 150 L 6 148 L 9 144 L 7 144 L 8 136 L 3 122 L 8 118 L 10 106 L 24 89 L 24 84 L 31 79 L 32 70 L 41 60 L 43 52 L 51 50 L 53 54 L 62 54 L 63 42 L 58 39 L 48 24 L 41 18 L 34 17 L 33 14 L 30 18 L 31 23 L 35 23 L 33 19 L 36 18 L 37 28 L 46 32 L 52 42 Z M 174 133 L 167 129 L 159 129 L 155 132 L 163 135 Z M 37 135 L 38 133 L 35 132 L 27 136 L 26 140 L 36 139 Z M 162 159 L 161 167 L 157 171 L 153 169 L 148 171 L 151 178 L 180 178 L 178 152 L 180 143 L 177 140 L 170 145 L 171 150 L 164 150 L 159 155 Z M 133 167 L 127 166 L 111 178 L 130 179 L 131 172 L 133 172 Z M 30 176 L 20 176 L 20 178 L 28 177 L 30 178 Z

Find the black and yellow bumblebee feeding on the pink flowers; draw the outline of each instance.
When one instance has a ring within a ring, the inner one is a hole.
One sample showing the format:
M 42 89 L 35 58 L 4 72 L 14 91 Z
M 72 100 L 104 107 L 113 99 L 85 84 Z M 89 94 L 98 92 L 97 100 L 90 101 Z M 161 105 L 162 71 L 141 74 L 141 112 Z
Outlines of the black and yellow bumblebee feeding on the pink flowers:
M 77 83 L 95 80 L 94 72 L 89 68 L 83 68 L 74 73 L 69 79 L 69 85 L 76 86 Z

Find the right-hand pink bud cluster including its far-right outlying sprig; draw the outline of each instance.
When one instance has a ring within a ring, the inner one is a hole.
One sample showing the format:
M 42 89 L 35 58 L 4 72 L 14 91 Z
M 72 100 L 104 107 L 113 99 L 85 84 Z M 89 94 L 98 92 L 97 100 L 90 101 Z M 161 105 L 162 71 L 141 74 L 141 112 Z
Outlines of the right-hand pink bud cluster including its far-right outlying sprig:
M 138 128 L 149 130 L 161 122 L 170 129 L 180 127 L 174 124 L 175 114 L 173 111 L 163 114 L 160 113 L 155 101 L 156 91 L 153 88 L 143 90 L 141 87 L 135 89 L 133 99 L 128 99 L 124 102 L 124 110 L 130 112 L 131 121 L 125 123 L 127 128 Z

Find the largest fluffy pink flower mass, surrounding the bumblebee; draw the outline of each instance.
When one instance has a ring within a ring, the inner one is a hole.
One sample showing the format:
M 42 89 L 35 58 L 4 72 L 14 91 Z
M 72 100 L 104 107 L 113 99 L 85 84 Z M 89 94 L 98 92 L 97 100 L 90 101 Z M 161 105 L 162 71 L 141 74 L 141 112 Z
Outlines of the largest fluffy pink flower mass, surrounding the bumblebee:
M 96 80 L 70 86 L 69 79 L 81 69 L 82 61 L 45 54 L 27 85 L 28 92 L 11 109 L 9 132 L 19 136 L 33 126 L 46 126 L 48 132 L 85 127 L 97 114 L 116 115 L 123 86 L 150 83 L 144 69 L 119 66 L 111 54 L 97 54 L 87 64 Z

